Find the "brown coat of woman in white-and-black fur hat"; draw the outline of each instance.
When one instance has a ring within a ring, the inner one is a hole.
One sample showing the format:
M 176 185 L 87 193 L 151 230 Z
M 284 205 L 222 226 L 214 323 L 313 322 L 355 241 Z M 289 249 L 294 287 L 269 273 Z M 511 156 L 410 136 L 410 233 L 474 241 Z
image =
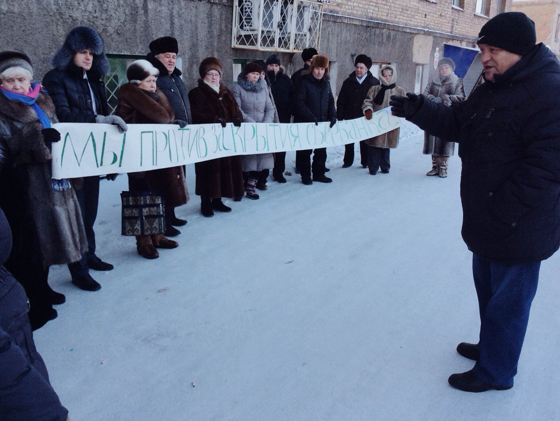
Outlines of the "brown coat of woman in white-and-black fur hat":
M 127 124 L 171 124 L 175 116 L 169 100 L 159 89 L 145 91 L 134 84 L 124 84 L 117 94 L 115 114 Z M 189 201 L 185 173 L 182 166 L 160 168 L 143 173 L 131 173 L 128 177 L 131 191 L 148 189 L 165 192 L 165 205 L 177 207 Z

